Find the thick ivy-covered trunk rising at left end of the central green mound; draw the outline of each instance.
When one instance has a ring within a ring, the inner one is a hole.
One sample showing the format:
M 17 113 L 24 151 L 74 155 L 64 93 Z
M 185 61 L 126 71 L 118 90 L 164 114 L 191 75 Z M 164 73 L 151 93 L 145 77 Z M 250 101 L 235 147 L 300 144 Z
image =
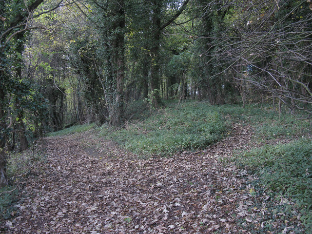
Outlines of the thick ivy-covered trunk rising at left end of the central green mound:
M 124 0 L 105 0 L 99 9 L 102 23 L 105 93 L 111 124 L 120 126 L 123 118 L 124 82 Z

